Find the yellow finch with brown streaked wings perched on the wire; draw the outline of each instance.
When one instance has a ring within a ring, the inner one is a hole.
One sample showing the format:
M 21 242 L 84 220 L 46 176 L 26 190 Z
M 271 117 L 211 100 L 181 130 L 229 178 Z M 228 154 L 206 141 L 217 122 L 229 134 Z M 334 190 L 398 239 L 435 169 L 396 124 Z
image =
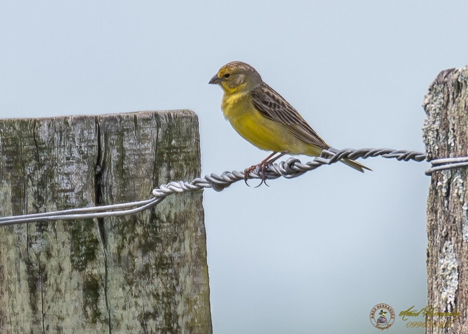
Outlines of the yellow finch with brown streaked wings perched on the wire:
M 259 167 L 262 173 L 285 154 L 319 156 L 323 149 L 330 148 L 291 104 L 263 82 L 254 67 L 240 61 L 230 62 L 209 83 L 223 89 L 221 108 L 232 127 L 259 149 L 273 151 L 259 164 L 247 168 L 245 179 L 255 168 Z M 353 160 L 342 162 L 360 172 L 371 170 Z

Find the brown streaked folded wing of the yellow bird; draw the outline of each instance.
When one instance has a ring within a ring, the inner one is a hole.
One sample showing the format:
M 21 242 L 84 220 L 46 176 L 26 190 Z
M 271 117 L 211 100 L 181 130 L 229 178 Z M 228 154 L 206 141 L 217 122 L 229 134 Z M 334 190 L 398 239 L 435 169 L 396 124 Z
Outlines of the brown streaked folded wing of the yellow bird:
M 264 117 L 283 124 L 299 139 L 328 149 L 328 145 L 299 115 L 297 110 L 270 86 L 263 83 L 251 91 L 252 103 Z

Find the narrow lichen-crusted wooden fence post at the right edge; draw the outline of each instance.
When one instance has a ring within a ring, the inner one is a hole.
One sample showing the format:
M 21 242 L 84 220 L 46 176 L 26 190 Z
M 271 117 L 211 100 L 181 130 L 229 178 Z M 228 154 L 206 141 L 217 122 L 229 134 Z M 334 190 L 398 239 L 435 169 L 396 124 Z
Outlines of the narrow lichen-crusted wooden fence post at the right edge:
M 424 100 L 424 142 L 429 158 L 468 155 L 468 66 L 442 71 Z M 434 172 L 427 198 L 427 300 L 438 312 L 460 313 L 451 328 L 426 333 L 468 333 L 468 169 Z M 454 317 L 429 317 L 450 321 Z

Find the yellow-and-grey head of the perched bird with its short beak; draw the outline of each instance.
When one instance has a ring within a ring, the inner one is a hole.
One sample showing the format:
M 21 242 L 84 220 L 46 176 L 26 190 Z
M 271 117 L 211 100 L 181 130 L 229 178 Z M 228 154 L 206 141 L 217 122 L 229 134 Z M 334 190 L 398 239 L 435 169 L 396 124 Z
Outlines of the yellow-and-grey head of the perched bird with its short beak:
M 226 93 L 249 91 L 262 83 L 254 67 L 241 61 L 230 62 L 220 68 L 209 84 L 220 85 Z

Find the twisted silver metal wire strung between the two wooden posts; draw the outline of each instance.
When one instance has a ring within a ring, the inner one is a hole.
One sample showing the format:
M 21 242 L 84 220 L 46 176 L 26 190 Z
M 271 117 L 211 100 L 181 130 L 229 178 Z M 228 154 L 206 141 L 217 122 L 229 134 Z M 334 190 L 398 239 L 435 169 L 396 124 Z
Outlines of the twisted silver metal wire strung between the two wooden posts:
M 333 163 L 336 163 L 341 159 L 367 159 L 378 156 L 387 159 L 394 158 L 399 161 L 414 160 L 419 162 L 426 160 L 426 155 L 424 153 L 416 151 L 403 151 L 392 149 L 336 150 L 331 148 L 328 150 L 323 150 L 320 157 L 316 157 L 313 161 L 309 161 L 306 163 L 302 163 L 299 159 L 296 158 L 289 158 L 286 161 L 281 161 L 279 163 L 275 163 L 268 166 L 263 173 L 260 172 L 257 168 L 247 175 L 247 179 L 275 179 L 280 176 L 283 176 L 285 178 L 294 178 L 304 174 L 305 172 L 316 169 L 322 165 L 331 165 Z M 426 174 L 430 174 L 435 170 L 442 170 L 442 167 L 444 169 L 448 169 L 454 168 L 450 166 L 460 166 L 460 164 L 464 164 L 463 166 L 468 166 L 468 157 L 437 159 L 432 161 L 432 163 L 433 166 L 435 163 L 438 166 L 429 169 L 428 171 L 426 171 Z M 221 175 L 205 175 L 204 177 L 197 177 L 192 181 L 171 181 L 167 184 L 161 184 L 159 188 L 153 189 L 152 193 L 154 197 L 147 200 L 121 204 L 102 205 L 96 207 L 59 210 L 44 213 L 25 214 L 10 217 L 0 217 L 0 226 L 59 219 L 75 220 L 84 218 L 123 216 L 149 209 L 161 202 L 167 196 L 174 193 L 195 192 L 204 188 L 212 188 L 215 191 L 222 191 L 229 187 L 229 185 L 231 185 L 232 183 L 243 179 L 243 172 L 226 171 Z

